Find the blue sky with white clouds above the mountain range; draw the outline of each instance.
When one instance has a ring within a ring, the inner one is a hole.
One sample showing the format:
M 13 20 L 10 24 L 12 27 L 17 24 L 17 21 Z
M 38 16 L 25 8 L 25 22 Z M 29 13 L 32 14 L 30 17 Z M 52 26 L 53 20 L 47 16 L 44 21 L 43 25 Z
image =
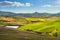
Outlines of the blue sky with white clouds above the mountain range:
M 0 0 L 0 11 L 58 13 L 60 12 L 60 0 Z

